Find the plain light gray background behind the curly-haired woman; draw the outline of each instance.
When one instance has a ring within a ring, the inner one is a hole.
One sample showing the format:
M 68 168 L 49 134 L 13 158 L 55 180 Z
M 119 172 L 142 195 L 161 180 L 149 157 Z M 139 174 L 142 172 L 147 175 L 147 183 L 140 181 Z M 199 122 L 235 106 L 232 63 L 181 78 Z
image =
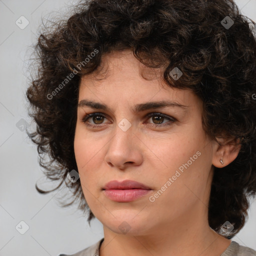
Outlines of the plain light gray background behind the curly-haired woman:
M 36 146 L 18 128 L 24 120 L 30 123 L 24 99 L 28 46 L 36 40 L 41 18 L 52 11 L 66 13 L 72 2 L 76 1 L 0 0 L 0 256 L 74 253 L 103 237 L 97 219 L 89 227 L 75 205 L 58 206 L 55 198 L 61 197 L 64 189 L 44 195 L 35 190 L 35 182 L 44 180 Z M 236 3 L 242 14 L 256 21 L 256 0 Z M 25 22 L 29 23 L 21 29 Z M 25 230 L 20 221 L 29 227 L 24 234 L 17 231 Z M 232 240 L 256 250 L 256 199 L 251 200 L 249 220 Z

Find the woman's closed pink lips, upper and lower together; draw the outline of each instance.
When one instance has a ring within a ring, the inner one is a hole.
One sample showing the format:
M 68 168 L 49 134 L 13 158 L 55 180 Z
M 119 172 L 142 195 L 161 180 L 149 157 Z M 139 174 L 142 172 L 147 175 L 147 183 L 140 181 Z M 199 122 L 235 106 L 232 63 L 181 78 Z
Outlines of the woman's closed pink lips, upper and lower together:
M 103 187 L 104 194 L 113 201 L 129 202 L 147 194 L 151 188 L 134 180 L 111 180 Z

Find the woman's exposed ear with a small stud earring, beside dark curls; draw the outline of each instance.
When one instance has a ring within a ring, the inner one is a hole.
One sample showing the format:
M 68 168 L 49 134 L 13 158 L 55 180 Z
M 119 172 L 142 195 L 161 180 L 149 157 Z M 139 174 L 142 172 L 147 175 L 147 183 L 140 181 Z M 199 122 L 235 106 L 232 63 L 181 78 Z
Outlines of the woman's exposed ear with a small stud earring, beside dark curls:
M 217 168 L 222 168 L 232 162 L 239 153 L 241 143 L 239 138 L 216 138 L 213 147 L 212 164 Z M 222 157 L 223 164 L 220 162 Z

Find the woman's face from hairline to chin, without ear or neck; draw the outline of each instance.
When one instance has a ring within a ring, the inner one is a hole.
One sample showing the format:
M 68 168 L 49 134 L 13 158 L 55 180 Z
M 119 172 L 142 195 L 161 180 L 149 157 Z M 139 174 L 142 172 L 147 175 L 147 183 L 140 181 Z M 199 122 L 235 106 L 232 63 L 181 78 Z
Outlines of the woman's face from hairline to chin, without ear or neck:
M 190 90 L 161 83 L 159 71 L 144 68 L 131 51 L 105 55 L 103 64 L 107 76 L 86 75 L 80 81 L 74 137 L 80 182 L 91 211 L 104 228 L 120 234 L 207 221 L 216 144 L 202 128 L 202 101 Z M 141 77 L 141 71 L 150 79 Z M 81 100 L 107 108 L 92 108 Z M 156 101 L 173 105 L 139 107 Z M 100 114 L 82 121 L 95 112 Z M 150 189 L 106 193 L 103 188 L 111 180 L 134 180 Z M 137 193 L 141 196 L 135 197 Z

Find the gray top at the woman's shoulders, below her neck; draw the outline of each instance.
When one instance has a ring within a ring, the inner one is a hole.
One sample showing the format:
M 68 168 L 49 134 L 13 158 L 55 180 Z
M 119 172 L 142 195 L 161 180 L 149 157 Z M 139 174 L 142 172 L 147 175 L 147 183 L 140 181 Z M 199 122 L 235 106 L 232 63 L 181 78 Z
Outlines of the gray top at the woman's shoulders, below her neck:
M 103 240 L 104 238 L 74 254 L 62 253 L 58 256 L 99 256 L 99 247 Z M 239 245 L 239 243 L 235 241 L 232 241 L 220 256 L 256 256 L 256 251 L 249 247 Z

